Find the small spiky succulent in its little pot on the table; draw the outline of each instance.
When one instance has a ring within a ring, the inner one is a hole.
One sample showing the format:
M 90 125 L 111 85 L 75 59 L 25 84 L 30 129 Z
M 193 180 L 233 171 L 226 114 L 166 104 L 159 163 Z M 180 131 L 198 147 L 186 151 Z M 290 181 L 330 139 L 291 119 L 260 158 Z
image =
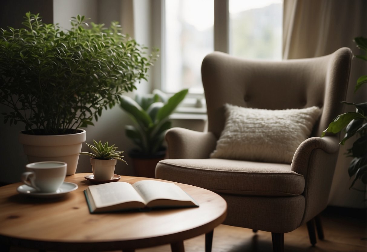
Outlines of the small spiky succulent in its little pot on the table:
M 94 179 L 98 180 L 109 180 L 115 175 L 115 165 L 117 160 L 126 161 L 121 156 L 124 151 L 116 151 L 118 147 L 115 144 L 109 146 L 108 141 L 102 144 L 101 141 L 98 143 L 93 140 L 94 145 L 87 144 L 88 147 L 94 152 L 80 152 L 80 154 L 92 156 L 91 165 Z M 126 163 L 127 164 L 127 163 Z

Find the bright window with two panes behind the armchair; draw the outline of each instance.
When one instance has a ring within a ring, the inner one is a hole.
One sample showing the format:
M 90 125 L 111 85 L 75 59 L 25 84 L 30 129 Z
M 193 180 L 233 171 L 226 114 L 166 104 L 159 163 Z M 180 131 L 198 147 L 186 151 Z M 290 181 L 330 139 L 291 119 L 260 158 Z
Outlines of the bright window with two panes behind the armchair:
M 167 93 L 189 88 L 190 94 L 203 94 L 201 62 L 214 50 L 244 58 L 281 60 L 283 0 L 161 3 L 160 88 Z M 214 30 L 219 36 L 214 36 Z

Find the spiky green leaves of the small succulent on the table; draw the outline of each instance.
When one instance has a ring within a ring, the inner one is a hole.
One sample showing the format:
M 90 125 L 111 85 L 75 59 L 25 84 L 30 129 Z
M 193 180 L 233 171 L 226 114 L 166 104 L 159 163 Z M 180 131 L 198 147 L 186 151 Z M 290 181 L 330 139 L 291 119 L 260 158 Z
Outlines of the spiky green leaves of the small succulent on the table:
M 87 145 L 94 153 L 80 152 L 79 154 L 92 156 L 95 159 L 113 159 L 114 158 L 114 159 L 121 160 L 126 163 L 126 161 L 122 159 L 124 158 L 124 156 L 120 155 L 124 151 L 116 151 L 116 149 L 119 147 L 114 147 L 115 144 L 109 146 L 107 141 L 105 144 L 102 144 L 101 141 L 97 143 L 95 140 L 93 140 L 93 143 L 94 143 L 94 146 L 91 144 L 87 144 Z

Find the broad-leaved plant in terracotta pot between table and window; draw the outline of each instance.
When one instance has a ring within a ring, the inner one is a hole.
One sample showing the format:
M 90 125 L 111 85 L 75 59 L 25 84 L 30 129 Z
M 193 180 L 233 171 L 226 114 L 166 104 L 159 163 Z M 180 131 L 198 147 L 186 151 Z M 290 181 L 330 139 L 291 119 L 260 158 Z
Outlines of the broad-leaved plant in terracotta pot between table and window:
M 129 152 L 137 176 L 155 177 L 157 162 L 166 155 L 163 140 L 166 130 L 171 128 L 169 116 L 187 93 L 188 89 L 184 89 L 168 97 L 160 90 L 153 90 L 153 94 L 137 95 L 135 100 L 121 96 L 121 108 L 135 122 L 126 126 L 125 133 L 137 147 Z

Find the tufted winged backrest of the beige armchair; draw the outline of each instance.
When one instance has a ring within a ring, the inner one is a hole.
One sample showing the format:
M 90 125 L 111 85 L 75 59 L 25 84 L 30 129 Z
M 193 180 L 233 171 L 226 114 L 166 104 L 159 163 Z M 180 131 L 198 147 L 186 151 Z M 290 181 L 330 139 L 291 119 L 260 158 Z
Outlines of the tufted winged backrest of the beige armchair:
M 320 136 L 342 111 L 351 59 L 346 47 L 323 57 L 283 61 L 245 60 L 220 52 L 207 55 L 201 75 L 208 131 L 219 138 L 226 103 L 262 109 L 318 106 L 322 114 L 312 136 Z

